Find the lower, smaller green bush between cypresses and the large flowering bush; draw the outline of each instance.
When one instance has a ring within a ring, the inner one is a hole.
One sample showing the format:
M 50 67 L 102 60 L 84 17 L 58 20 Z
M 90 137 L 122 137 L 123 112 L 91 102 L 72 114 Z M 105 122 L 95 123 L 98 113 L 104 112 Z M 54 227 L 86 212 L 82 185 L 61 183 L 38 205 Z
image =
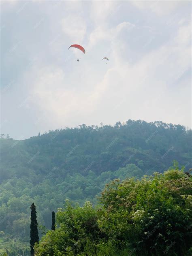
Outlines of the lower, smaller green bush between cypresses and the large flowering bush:
M 75 208 L 66 201 L 66 207 L 57 213 L 59 228 L 49 231 L 41 244 L 36 245 L 35 255 L 76 255 L 84 251 L 95 255 L 93 241 L 102 237 L 97 224 L 96 210 L 90 202 Z M 45 245 L 45 246 L 44 246 Z M 45 249 L 45 250 L 44 250 Z

